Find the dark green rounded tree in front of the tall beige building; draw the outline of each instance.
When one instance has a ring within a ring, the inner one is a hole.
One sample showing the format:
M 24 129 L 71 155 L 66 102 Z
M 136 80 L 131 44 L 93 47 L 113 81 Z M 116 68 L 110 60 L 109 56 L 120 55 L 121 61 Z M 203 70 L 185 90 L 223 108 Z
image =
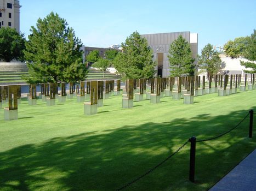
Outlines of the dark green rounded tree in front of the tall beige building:
M 0 60 L 10 62 L 13 59 L 24 61 L 25 38 L 14 28 L 0 28 Z

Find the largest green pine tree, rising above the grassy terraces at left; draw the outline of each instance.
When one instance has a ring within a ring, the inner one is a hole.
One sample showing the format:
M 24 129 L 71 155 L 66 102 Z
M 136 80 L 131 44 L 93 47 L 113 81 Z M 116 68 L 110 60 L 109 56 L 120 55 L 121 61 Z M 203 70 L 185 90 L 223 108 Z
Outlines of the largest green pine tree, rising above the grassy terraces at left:
M 81 40 L 68 27 L 65 19 L 53 12 L 37 20 L 37 28 L 31 27 L 32 34 L 25 43 L 25 58 L 29 67 L 27 82 L 76 82 L 87 75 L 82 63 Z

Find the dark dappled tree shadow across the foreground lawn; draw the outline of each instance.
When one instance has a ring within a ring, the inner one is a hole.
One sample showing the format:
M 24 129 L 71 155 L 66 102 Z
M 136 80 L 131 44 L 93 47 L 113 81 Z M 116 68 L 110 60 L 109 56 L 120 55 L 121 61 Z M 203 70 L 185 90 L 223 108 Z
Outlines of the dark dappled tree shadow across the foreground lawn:
M 116 190 L 161 162 L 192 135 L 198 140 L 218 135 L 247 113 L 126 125 L 16 147 L 0 153 L 0 189 Z M 255 148 L 255 138 L 247 138 L 248 122 L 247 118 L 225 138 L 197 143 L 196 184 L 188 181 L 188 144 L 126 190 L 207 190 L 205 183 L 214 184 Z

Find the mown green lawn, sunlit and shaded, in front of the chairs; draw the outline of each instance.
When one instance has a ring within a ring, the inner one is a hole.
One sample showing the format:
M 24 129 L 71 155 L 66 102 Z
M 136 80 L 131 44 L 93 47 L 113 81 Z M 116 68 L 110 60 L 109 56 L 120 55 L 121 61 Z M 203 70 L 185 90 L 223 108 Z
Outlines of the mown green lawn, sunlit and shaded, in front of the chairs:
M 229 130 L 256 111 L 256 90 L 218 97 L 134 102 L 104 100 L 98 114 L 84 115 L 83 103 L 67 99 L 46 106 L 19 105 L 19 120 L 4 121 L 0 110 L 0 190 L 116 190 L 161 162 L 191 136 L 198 140 Z M 256 116 L 256 115 L 255 115 Z M 254 117 L 255 120 L 255 117 Z M 187 144 L 166 163 L 125 190 L 207 190 L 256 147 L 247 118 L 217 140 L 196 145 L 195 183 L 189 182 Z

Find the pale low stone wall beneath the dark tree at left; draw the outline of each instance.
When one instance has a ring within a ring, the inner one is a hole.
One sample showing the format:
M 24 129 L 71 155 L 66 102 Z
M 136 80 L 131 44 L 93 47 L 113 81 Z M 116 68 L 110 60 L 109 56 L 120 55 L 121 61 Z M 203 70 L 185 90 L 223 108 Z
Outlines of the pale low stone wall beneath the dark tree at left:
M 0 62 L 0 71 L 27 72 L 29 69 L 25 62 Z

